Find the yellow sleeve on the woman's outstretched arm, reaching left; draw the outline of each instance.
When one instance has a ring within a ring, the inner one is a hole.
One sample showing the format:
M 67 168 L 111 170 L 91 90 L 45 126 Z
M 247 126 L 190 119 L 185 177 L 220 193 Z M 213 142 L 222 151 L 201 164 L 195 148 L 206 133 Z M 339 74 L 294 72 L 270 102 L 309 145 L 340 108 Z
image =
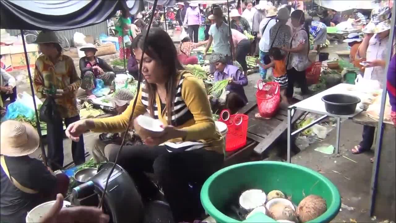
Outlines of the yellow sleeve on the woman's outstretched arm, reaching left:
M 141 96 L 142 94 L 140 90 L 139 94 L 137 95 L 138 98 L 135 106 L 135 111 L 133 112 L 133 119 L 139 115 L 143 115 L 146 112 L 145 106 L 143 105 L 141 100 Z M 126 128 L 128 127 L 129 117 L 132 114 L 133 100 L 131 100 L 128 108 L 126 108 L 126 110 L 120 115 L 101 119 L 91 119 L 95 123 L 95 128 L 91 129 L 91 131 L 96 133 L 119 133 L 126 131 Z

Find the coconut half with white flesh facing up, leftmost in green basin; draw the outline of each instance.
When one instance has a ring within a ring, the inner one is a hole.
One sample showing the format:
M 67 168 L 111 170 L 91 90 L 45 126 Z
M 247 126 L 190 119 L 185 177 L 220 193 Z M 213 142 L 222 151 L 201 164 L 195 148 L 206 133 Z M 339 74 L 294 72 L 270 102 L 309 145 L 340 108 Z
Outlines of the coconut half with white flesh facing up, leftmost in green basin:
M 263 190 L 260 189 L 246 190 L 239 197 L 239 205 L 246 210 L 263 206 L 266 201 L 267 195 Z

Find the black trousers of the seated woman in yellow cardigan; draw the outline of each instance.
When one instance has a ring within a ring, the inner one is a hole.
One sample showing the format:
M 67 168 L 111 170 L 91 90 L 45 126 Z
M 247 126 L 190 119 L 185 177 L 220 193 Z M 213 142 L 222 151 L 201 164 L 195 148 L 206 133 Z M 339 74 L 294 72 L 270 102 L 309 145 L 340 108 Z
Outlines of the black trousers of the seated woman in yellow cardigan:
M 109 161 L 115 160 L 118 148 L 106 146 Z M 143 198 L 153 192 L 144 172 L 154 173 L 174 222 L 192 222 L 204 213 L 200 191 L 206 179 L 221 168 L 223 154 L 204 149 L 168 152 L 166 146 L 124 146 L 117 163 L 131 175 Z

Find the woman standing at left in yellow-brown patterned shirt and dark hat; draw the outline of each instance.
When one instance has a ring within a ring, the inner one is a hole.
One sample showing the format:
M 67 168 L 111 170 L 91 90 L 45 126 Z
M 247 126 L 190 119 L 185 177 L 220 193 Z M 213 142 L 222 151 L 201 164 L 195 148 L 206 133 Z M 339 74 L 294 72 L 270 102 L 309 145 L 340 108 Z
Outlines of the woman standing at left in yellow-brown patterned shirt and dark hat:
M 65 121 L 66 127 L 80 120 L 77 109 L 76 93 L 81 85 L 73 59 L 62 54 L 59 39 L 53 31 L 42 31 L 36 40 L 44 56 L 36 60 L 34 69 L 34 90 L 39 98 L 46 98 L 47 89 L 63 90 L 61 94 L 53 95 L 57 109 Z M 48 159 L 52 170 L 63 167 L 63 123 L 62 119 L 47 123 Z M 80 135 L 79 142 L 72 142 L 72 157 L 74 164 L 85 161 L 84 140 Z

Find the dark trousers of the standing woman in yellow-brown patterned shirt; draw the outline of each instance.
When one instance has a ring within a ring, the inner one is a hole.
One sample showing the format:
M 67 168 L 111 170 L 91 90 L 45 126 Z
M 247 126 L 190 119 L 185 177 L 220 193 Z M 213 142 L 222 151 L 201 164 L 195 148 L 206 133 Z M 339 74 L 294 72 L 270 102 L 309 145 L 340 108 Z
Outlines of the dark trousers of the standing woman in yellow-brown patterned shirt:
M 65 118 L 65 125 L 68 127 L 71 123 L 80 120 L 80 115 Z M 55 120 L 53 123 L 47 123 L 47 143 L 48 143 L 48 160 L 51 169 L 58 170 L 63 167 L 63 124 L 62 119 Z M 76 165 L 85 162 L 84 138 L 80 135 L 80 141 L 72 142 L 72 158 Z M 56 164 L 55 164 L 56 163 Z

